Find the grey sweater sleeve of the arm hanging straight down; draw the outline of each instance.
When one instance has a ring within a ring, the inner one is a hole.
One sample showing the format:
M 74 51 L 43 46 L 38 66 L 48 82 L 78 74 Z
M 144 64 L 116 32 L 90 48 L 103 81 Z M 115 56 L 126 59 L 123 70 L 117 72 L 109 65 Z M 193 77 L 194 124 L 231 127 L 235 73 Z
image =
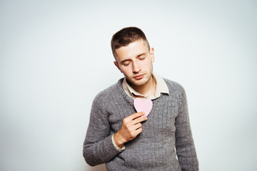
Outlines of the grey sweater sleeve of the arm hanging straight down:
M 186 93 L 182 87 L 179 96 L 180 105 L 176 118 L 176 153 L 178 162 L 181 165 L 181 170 L 196 171 L 199 170 L 198 160 L 189 123 Z

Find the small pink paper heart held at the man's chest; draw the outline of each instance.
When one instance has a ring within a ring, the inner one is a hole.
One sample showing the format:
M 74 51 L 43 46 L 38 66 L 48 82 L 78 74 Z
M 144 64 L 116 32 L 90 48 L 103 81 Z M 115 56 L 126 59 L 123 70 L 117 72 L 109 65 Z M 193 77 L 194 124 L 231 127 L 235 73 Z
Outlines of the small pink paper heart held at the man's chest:
M 134 106 L 137 112 L 145 112 L 144 116 L 148 116 L 153 108 L 153 102 L 150 99 L 143 100 L 141 98 L 135 98 L 133 100 Z

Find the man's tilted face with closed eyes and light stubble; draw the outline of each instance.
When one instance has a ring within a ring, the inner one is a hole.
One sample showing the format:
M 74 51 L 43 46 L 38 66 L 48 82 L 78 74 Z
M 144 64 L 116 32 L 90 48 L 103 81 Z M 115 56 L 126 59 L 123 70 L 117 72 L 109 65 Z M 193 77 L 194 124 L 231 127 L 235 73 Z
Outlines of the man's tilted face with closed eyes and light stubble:
M 143 40 L 129 43 L 116 49 L 114 64 L 124 73 L 126 80 L 133 88 L 144 86 L 148 83 L 153 73 L 154 53 L 150 52 Z

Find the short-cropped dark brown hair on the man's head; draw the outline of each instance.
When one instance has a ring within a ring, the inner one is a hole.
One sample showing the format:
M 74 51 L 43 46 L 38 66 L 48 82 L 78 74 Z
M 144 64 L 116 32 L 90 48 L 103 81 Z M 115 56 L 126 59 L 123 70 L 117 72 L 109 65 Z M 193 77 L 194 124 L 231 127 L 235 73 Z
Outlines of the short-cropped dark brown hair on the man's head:
M 150 51 L 150 45 L 147 41 L 146 35 L 141 31 L 140 28 L 137 27 L 126 27 L 122 28 L 120 31 L 114 34 L 111 38 L 111 51 L 114 54 L 114 58 L 116 58 L 116 49 L 121 46 L 128 46 L 129 43 L 138 41 L 142 39 Z

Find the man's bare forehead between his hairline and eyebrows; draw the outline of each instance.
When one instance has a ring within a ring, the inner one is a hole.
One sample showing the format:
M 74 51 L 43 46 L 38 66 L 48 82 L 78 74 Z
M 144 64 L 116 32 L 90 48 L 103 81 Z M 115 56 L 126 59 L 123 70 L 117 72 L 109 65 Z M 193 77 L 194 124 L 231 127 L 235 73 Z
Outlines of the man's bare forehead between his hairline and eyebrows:
M 127 46 L 121 46 L 116 49 L 116 60 L 122 61 L 124 59 L 136 58 L 141 53 L 147 53 L 148 47 L 146 43 L 141 39 L 129 43 Z

